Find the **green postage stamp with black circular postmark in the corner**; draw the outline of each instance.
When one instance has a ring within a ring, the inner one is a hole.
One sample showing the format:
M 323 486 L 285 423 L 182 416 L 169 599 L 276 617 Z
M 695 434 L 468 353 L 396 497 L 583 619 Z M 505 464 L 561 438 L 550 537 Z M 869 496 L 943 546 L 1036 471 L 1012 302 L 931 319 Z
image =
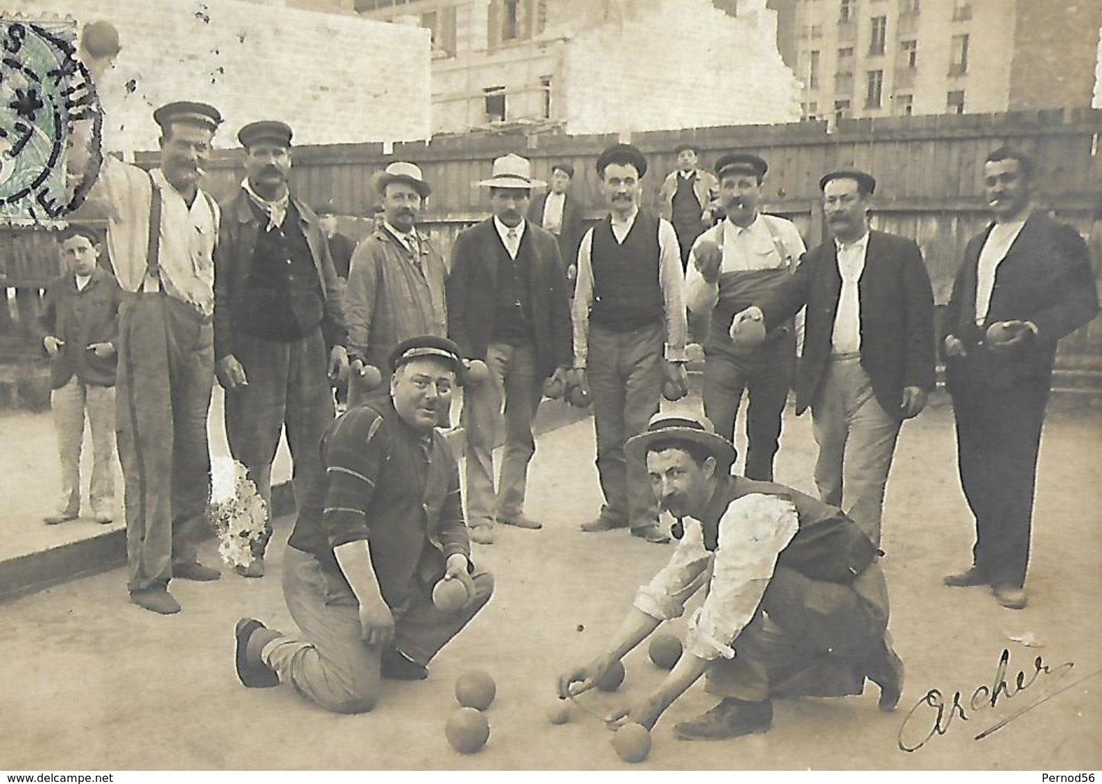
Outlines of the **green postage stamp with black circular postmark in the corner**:
M 71 138 L 88 123 L 98 140 L 101 116 L 73 20 L 0 15 L 0 222 L 51 222 L 84 200 L 98 161 L 68 171 Z

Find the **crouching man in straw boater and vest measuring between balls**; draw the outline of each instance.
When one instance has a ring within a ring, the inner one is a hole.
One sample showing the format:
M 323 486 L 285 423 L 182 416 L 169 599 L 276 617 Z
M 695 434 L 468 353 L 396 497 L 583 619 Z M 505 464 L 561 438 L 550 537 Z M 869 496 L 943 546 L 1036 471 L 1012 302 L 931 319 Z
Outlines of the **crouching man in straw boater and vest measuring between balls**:
M 876 548 L 852 520 L 782 484 L 730 476 L 735 449 L 703 417 L 660 414 L 628 450 L 646 456 L 655 496 L 683 536 L 639 588 L 607 652 L 560 676 L 561 697 L 591 688 L 706 582 L 684 655 L 614 720 L 652 728 L 701 675 L 721 699 L 674 726 L 685 740 L 765 732 L 774 697 L 861 694 L 866 678 L 880 688 L 880 710 L 895 709 L 903 662 L 887 633 L 887 587 Z

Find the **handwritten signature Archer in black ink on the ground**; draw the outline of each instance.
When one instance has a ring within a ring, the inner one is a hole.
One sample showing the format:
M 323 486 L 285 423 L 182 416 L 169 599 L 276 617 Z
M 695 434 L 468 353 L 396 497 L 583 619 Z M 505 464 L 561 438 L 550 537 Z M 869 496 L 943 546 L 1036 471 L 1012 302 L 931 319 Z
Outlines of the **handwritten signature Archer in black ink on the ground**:
M 970 718 L 975 718 L 977 714 L 982 714 L 982 711 L 997 706 L 1001 699 L 1013 699 L 1023 692 L 1034 687 L 1035 684 L 1044 685 L 1059 680 L 1076 666 L 1073 662 L 1048 665 L 1040 656 L 1037 656 L 1033 661 L 1031 668 L 1027 668 L 1025 671 L 1019 669 L 1013 680 L 1007 682 L 1006 672 L 1009 667 L 1009 661 L 1011 652 L 1003 649 L 1003 654 L 998 657 L 998 666 L 995 669 L 995 677 L 993 678 L 991 686 L 977 686 L 975 690 L 972 692 L 972 696 L 968 699 L 968 708 L 965 708 L 962 704 L 963 697 L 960 692 L 954 693 L 951 699 L 949 699 L 940 689 L 932 688 L 927 692 L 926 695 L 915 704 L 915 707 L 908 711 L 907 716 L 903 720 L 903 723 L 899 726 L 899 733 L 897 736 L 899 749 L 907 752 L 918 751 L 936 734 L 946 734 L 952 726 L 953 719 L 960 718 L 961 721 L 968 721 Z M 1023 706 L 1018 710 L 1015 710 L 1006 718 L 995 722 L 987 729 L 976 734 L 974 740 L 983 740 L 991 733 L 1001 730 L 1006 725 L 1019 718 L 1026 711 L 1048 701 L 1061 692 L 1065 692 L 1072 686 L 1077 686 L 1088 678 L 1094 677 L 1099 673 L 1102 673 L 1102 669 L 1070 683 L 1056 692 L 1039 695 L 1034 701 Z M 932 723 L 927 723 L 930 721 L 932 721 Z M 922 732 L 926 734 L 921 734 Z

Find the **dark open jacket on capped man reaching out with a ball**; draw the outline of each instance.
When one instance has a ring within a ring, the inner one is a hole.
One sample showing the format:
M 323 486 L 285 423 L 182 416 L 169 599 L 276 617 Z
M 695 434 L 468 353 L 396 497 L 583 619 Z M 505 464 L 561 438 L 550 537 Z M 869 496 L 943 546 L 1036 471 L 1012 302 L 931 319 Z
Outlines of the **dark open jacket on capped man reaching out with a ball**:
M 880 406 L 901 418 L 905 386 L 934 385 L 933 292 L 912 240 L 869 231 L 865 269 L 857 282 L 861 303 L 861 367 Z M 796 378 L 796 411 L 814 400 L 831 353 L 831 335 L 842 276 L 833 240 L 812 248 L 787 281 L 755 303 L 774 329 L 807 305 L 803 358 Z

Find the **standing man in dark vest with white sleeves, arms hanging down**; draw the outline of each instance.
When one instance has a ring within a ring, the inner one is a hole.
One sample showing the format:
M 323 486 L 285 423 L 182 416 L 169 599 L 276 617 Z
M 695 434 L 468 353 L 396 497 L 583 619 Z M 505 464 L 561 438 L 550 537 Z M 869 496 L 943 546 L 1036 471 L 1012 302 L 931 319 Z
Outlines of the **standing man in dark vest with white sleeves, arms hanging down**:
M 642 461 L 624 454 L 627 439 L 658 412 L 663 392 L 672 400 L 688 391 L 678 238 L 669 221 L 639 210 L 646 173 L 647 159 L 630 144 L 614 144 L 597 159 L 609 215 L 585 233 L 577 252 L 568 386 L 592 394 L 605 494 L 601 514 L 582 530 L 630 527 L 635 536 L 665 544 L 670 540 L 658 524 Z

